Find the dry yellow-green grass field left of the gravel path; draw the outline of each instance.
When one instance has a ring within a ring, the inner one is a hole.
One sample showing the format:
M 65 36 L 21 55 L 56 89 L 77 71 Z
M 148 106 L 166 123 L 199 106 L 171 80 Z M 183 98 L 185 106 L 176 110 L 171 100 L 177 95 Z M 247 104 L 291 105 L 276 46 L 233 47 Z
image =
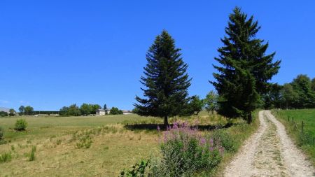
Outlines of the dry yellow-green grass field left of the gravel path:
M 256 115 L 257 113 L 255 113 Z M 4 139 L 0 155 L 10 153 L 10 162 L 0 162 L 0 176 L 118 176 L 124 168 L 141 159 L 159 154 L 160 118 L 139 115 L 106 115 L 90 117 L 23 117 L 29 126 L 26 132 L 15 132 L 15 121 L 21 117 L 0 118 Z M 222 127 L 228 120 L 202 112 L 192 118 L 170 118 L 169 122 L 186 120 L 205 129 Z M 258 127 L 233 120 L 226 129 L 237 140 L 237 146 Z M 153 125 L 129 129 L 127 126 Z M 208 131 L 204 131 L 208 132 Z M 92 140 L 90 148 L 78 148 L 82 137 Z M 35 160 L 29 161 L 36 146 Z M 226 154 L 219 169 L 233 154 Z

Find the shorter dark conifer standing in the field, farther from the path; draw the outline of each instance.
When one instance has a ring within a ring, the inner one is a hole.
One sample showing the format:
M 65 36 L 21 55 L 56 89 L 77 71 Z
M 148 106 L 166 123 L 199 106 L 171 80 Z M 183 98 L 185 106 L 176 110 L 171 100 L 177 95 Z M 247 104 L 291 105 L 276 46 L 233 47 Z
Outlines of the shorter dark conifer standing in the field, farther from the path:
M 191 79 L 180 50 L 165 30 L 155 38 L 146 53 L 148 64 L 140 81 L 146 87 L 141 88 L 146 98 L 136 97 L 139 103 L 134 104 L 139 115 L 164 118 L 168 125 L 169 116 L 180 115 L 186 108 Z

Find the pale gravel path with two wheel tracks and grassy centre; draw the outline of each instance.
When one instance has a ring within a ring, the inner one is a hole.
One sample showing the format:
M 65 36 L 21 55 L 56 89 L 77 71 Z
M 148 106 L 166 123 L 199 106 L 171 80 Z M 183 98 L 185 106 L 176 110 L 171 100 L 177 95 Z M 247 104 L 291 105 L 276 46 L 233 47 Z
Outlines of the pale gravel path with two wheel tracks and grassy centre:
M 315 176 L 315 169 L 270 111 L 259 112 L 260 127 L 244 143 L 224 176 Z

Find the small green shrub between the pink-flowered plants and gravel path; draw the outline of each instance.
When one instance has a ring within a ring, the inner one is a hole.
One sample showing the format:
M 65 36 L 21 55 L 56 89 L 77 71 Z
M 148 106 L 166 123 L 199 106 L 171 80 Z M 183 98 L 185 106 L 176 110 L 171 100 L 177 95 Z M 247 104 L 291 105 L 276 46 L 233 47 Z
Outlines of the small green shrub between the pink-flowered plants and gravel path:
M 220 145 L 223 146 L 224 150 L 232 153 L 237 151 L 237 143 L 225 130 L 216 130 L 214 134 L 211 135 L 211 138 L 214 139 L 214 142 L 220 142 Z

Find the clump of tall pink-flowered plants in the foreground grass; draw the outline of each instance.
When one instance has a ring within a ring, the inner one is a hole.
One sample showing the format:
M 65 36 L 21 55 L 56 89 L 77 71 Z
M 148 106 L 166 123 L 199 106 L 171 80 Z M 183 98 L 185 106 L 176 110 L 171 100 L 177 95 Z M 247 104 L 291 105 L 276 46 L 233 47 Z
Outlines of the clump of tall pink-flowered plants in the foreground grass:
M 175 122 L 163 132 L 161 141 L 161 164 L 155 167 L 159 176 L 194 176 L 211 171 L 223 157 L 219 139 L 207 139 L 187 123 Z

